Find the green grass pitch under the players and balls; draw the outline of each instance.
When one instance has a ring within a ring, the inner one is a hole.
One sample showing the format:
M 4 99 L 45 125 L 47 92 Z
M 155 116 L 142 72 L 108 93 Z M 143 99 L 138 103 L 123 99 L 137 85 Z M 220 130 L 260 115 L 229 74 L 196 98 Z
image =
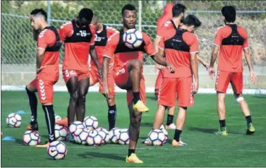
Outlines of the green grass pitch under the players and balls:
M 144 164 L 128 164 L 125 157 L 127 145 L 107 144 L 99 147 L 66 143 L 68 154 L 64 160 L 51 160 L 44 148 L 23 145 L 22 137 L 30 119 L 25 92 L 1 92 L 1 131 L 16 141 L 1 140 L 1 167 L 266 167 L 266 96 L 245 95 L 252 112 L 255 134 L 246 136 L 246 119 L 243 117 L 233 95 L 226 97 L 226 127 L 229 136 L 216 136 L 219 128 L 215 95 L 195 95 L 195 106 L 188 109 L 186 126 L 181 135 L 188 145 L 173 148 L 169 143 L 160 147 L 145 146 L 138 142 L 137 155 Z M 89 92 L 86 100 L 86 116 L 93 115 L 99 126 L 108 127 L 107 105 L 102 95 Z M 116 96 L 118 109 L 116 126 L 128 128 L 126 94 Z M 68 93 L 56 92 L 56 114 L 66 116 Z M 152 128 L 157 103 L 153 94 L 147 94 L 150 112 L 143 114 L 140 139 L 147 137 Z M 6 116 L 24 110 L 20 128 L 8 128 Z M 165 117 L 166 118 L 166 117 Z M 39 104 L 38 121 L 42 141 L 47 140 L 44 112 Z M 170 140 L 174 131 L 168 131 Z M 3 136 L 2 136 L 3 138 Z M 171 142 L 171 141 L 169 141 Z

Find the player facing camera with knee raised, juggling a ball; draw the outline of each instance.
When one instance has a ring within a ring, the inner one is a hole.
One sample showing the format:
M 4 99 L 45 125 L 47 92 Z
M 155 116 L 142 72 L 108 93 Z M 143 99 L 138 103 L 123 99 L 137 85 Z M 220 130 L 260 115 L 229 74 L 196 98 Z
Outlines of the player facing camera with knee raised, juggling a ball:
M 143 163 L 135 155 L 135 147 L 138 142 L 140 133 L 140 120 L 142 112 L 149 109 L 145 106 L 145 83 L 143 76 L 143 54 L 151 56 L 158 64 L 167 66 L 169 71 L 173 71 L 173 67 L 155 51 L 152 46 L 150 37 L 143 33 L 143 44 L 135 49 L 129 49 L 123 42 L 123 33 L 128 29 L 135 28 L 137 11 L 131 4 L 123 6 L 122 11 L 123 28 L 119 33 L 114 34 L 107 41 L 107 47 L 104 52 L 102 63 L 103 74 L 103 90 L 106 97 L 109 97 L 107 71 L 109 60 L 114 56 L 114 80 L 119 88 L 127 90 L 127 102 L 130 114 L 129 124 L 129 149 L 126 162 Z M 115 55 L 114 55 L 115 54 Z

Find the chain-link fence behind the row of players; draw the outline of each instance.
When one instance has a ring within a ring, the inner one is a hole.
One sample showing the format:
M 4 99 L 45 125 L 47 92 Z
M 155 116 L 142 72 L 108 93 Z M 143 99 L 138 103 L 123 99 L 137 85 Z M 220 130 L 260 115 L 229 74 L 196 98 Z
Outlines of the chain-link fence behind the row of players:
M 1 1 L 1 62 L 2 76 L 5 79 L 2 77 L 1 80 L 4 84 L 25 84 L 34 78 L 36 44 L 32 40 L 28 20 L 33 8 L 44 8 L 49 22 L 56 27 L 76 18 L 81 8 L 92 8 L 104 24 L 119 30 L 122 26 L 121 8 L 125 4 L 133 4 L 138 10 L 137 28 L 154 39 L 157 18 L 162 15 L 164 5 L 169 2 L 184 4 L 187 7 L 186 14 L 193 13 L 202 21 L 201 28 L 195 34 L 200 41 L 200 56 L 207 62 L 210 60 L 215 32 L 224 25 L 220 12 L 222 6 L 236 6 L 236 23 L 248 31 L 253 64 L 260 76 L 258 85 L 248 87 L 266 88 L 266 79 L 263 76 L 266 73 L 266 1 Z M 63 56 L 62 51 L 61 61 Z M 150 58 L 145 58 L 145 64 L 155 63 Z M 203 69 L 201 71 L 205 74 Z M 150 73 L 155 73 L 154 68 L 147 68 L 147 74 Z M 154 83 L 155 74 L 152 76 L 151 83 Z M 209 84 L 202 87 L 213 88 Z

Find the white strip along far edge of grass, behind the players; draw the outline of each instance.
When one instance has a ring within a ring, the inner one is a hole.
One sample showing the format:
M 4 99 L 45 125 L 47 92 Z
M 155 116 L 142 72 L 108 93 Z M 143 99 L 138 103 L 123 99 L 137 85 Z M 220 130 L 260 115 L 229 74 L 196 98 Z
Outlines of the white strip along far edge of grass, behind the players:
M 25 85 L 2 85 L 1 91 L 24 91 Z M 89 92 L 98 92 L 99 88 L 97 86 L 91 86 Z M 115 87 L 116 92 L 126 92 L 126 90 L 121 90 L 117 86 Z M 54 85 L 54 91 L 56 92 L 67 92 L 66 85 Z M 155 92 L 154 87 L 147 87 L 146 92 Z M 199 88 L 198 93 L 205 94 L 215 94 L 214 88 Z M 233 94 L 231 88 L 227 89 L 227 93 Z M 246 95 L 266 95 L 266 89 L 243 89 L 243 94 Z

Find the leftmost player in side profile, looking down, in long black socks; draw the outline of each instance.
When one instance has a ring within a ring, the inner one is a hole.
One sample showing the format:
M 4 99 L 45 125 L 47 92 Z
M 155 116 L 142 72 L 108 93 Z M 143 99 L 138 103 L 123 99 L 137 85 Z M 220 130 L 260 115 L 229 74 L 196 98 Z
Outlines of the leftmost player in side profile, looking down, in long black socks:
M 37 39 L 37 77 L 26 86 L 26 92 L 30 102 L 30 109 L 33 119 L 28 126 L 30 130 L 37 130 L 37 98 L 35 92 L 38 92 L 42 109 L 44 110 L 45 119 L 49 133 L 49 142 L 37 147 L 47 148 L 52 143 L 54 137 L 54 108 L 53 85 L 59 79 L 59 49 L 61 40 L 59 33 L 54 26 L 47 24 L 47 13 L 41 8 L 36 8 L 30 13 L 30 23 L 35 30 L 42 30 Z

